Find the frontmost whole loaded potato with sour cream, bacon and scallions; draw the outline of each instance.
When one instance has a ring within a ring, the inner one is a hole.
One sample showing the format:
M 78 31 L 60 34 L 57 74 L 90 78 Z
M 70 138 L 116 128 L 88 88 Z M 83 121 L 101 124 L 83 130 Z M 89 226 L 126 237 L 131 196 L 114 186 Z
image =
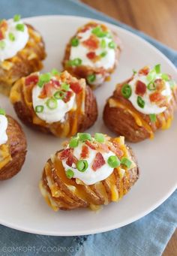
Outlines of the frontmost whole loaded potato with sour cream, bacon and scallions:
M 138 178 L 135 156 L 124 137 L 78 133 L 46 162 L 40 191 L 55 211 L 98 210 L 121 200 Z

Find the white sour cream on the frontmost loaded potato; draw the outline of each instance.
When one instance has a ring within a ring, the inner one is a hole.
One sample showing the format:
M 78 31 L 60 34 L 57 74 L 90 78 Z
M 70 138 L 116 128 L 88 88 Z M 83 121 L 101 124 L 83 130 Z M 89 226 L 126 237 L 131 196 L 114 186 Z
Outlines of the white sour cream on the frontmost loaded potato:
M 80 142 L 77 148 L 74 149 L 74 156 L 79 160 L 81 159 L 80 154 L 82 152 L 82 146 L 83 143 Z M 115 155 L 115 153 L 113 153 L 112 151 L 108 153 L 101 153 L 106 163 L 101 168 L 95 171 L 92 169 L 92 164 L 94 163 L 97 153 L 97 150 L 89 148 L 89 158 L 84 158 L 84 160 L 86 160 L 89 164 L 89 167 L 85 172 L 80 172 L 79 170 L 77 170 L 75 164 L 73 164 L 72 167 L 68 166 L 68 164 L 66 164 L 66 160 L 62 160 L 63 167 L 65 168 L 65 171 L 67 171 L 68 169 L 73 170 L 74 178 L 82 180 L 86 185 L 92 185 L 96 182 L 100 182 L 101 180 L 107 179 L 107 177 L 110 176 L 111 173 L 113 173 L 114 168 L 110 167 L 110 165 L 107 164 L 107 160 L 111 155 Z

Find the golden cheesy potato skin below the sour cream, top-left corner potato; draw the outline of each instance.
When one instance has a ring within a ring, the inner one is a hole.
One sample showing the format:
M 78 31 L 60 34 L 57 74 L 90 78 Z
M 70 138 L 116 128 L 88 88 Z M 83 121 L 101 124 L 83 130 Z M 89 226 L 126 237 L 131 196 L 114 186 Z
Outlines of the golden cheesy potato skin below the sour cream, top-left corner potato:
M 0 65 L 0 92 L 5 95 L 9 95 L 11 86 L 18 79 L 43 68 L 42 60 L 46 58 L 43 38 L 31 25 L 26 26 L 29 33 L 26 47 Z

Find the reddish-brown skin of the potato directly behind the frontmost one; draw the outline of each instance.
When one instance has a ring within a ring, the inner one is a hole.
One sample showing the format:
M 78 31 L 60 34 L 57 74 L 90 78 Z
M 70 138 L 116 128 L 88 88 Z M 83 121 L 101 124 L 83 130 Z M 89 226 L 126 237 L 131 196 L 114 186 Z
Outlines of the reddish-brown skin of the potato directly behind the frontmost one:
M 17 83 L 20 83 L 20 80 Z M 26 105 L 23 92 L 21 93 L 21 101 L 17 101 L 15 104 L 13 104 L 13 107 L 17 113 L 17 116 L 22 120 L 22 122 L 25 125 L 28 125 L 31 128 L 35 128 L 37 130 L 43 131 L 44 133 L 53 134 L 50 128 L 47 128 L 45 125 L 42 126 L 42 125 L 36 125 L 33 123 L 33 116 L 35 115 L 35 113 L 33 109 L 29 108 Z M 74 113 L 72 115 L 73 116 L 71 116 L 71 119 L 75 119 Z M 86 86 L 85 112 L 84 114 L 80 115 L 78 118 L 77 132 L 85 131 L 86 129 L 90 128 L 95 123 L 97 118 L 98 118 L 98 105 L 97 105 L 95 95 L 93 94 L 89 86 Z M 56 122 L 56 125 L 57 123 L 58 122 Z M 55 136 L 59 136 L 59 135 L 55 134 Z

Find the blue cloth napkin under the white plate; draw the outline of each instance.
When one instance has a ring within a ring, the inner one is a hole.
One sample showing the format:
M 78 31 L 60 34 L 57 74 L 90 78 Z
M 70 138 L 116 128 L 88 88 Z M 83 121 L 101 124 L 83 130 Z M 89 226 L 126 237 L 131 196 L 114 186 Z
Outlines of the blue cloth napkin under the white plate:
M 142 32 L 74 0 L 1 0 L 1 16 L 68 14 L 104 20 L 141 36 L 177 66 L 177 52 Z M 1 17 L 1 18 L 3 18 Z M 0 225 L 0 255 L 160 255 L 177 226 L 177 191 L 150 214 L 113 231 L 89 236 L 40 236 Z

